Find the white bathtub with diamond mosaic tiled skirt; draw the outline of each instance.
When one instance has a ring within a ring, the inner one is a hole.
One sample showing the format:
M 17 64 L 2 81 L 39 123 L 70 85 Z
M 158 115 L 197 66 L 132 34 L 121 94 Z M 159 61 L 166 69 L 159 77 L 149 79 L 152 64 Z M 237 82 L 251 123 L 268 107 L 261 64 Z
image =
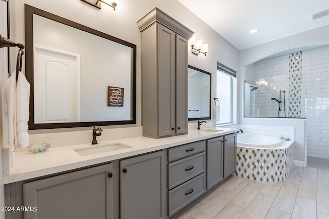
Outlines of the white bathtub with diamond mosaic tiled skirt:
M 260 182 L 285 181 L 294 165 L 294 141 L 239 134 L 236 148 L 236 176 Z

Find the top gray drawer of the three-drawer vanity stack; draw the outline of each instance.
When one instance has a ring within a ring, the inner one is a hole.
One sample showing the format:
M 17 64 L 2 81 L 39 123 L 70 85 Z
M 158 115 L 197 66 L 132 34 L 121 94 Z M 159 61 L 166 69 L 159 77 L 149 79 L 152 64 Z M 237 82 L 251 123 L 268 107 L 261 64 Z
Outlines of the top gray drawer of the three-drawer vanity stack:
M 174 148 L 168 149 L 168 160 L 169 162 L 177 161 L 181 158 L 191 156 L 200 152 L 205 151 L 206 141 L 193 142 L 186 145 L 181 145 Z

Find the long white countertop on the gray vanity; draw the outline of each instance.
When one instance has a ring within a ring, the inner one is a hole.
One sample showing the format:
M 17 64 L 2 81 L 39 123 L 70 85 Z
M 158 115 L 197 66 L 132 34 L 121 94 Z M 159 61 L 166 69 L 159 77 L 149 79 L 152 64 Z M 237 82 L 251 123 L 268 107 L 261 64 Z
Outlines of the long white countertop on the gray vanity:
M 217 128 L 218 131 L 215 132 L 213 129 L 216 128 L 189 130 L 188 134 L 157 139 L 140 136 L 99 142 L 99 145 L 120 143 L 131 146 L 131 148 L 87 156 L 81 156 L 74 149 L 90 147 L 92 146 L 90 143 L 64 147 L 50 147 L 46 152 L 35 154 L 30 154 L 26 151 L 15 152 L 13 165 L 7 170 L 9 174 L 4 176 L 4 183 L 9 184 L 90 165 L 111 162 L 130 156 L 136 156 L 240 131 L 239 129 Z

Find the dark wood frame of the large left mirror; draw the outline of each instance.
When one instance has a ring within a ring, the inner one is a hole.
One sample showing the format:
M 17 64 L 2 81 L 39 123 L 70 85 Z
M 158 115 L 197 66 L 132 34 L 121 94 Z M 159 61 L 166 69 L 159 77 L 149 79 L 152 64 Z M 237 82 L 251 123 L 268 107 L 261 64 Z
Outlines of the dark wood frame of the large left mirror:
M 62 23 L 64 25 L 83 30 L 85 32 L 109 39 L 110 41 L 125 45 L 132 48 L 132 95 L 131 95 L 131 120 L 125 121 L 95 121 L 95 122 L 71 122 L 71 123 L 44 123 L 35 124 L 34 123 L 34 91 L 33 91 L 33 14 L 49 18 L 53 21 Z M 31 85 L 30 92 L 30 118 L 29 118 L 29 129 L 52 129 L 52 128 L 72 128 L 72 127 L 87 127 L 87 126 L 108 126 L 108 125 L 126 125 L 126 124 L 136 124 L 136 45 L 129 42 L 123 41 L 122 39 L 116 38 L 114 36 L 105 34 L 103 32 L 97 31 L 95 29 L 83 26 L 81 24 L 69 21 L 63 17 L 51 14 L 49 12 L 43 11 L 38 8 L 25 4 L 25 76 L 27 81 Z

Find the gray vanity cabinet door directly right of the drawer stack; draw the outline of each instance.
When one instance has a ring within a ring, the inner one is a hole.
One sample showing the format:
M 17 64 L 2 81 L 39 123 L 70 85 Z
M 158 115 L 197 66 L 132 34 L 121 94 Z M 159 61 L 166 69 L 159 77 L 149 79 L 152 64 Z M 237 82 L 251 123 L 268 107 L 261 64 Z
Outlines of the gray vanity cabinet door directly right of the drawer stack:
M 207 190 L 224 180 L 223 136 L 207 140 Z

